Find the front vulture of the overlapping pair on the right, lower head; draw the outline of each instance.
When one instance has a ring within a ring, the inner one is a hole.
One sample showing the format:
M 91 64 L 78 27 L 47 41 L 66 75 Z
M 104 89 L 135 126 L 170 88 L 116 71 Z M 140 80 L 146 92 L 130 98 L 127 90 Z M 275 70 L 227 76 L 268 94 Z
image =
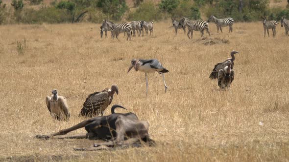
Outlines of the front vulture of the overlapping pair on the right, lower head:
M 218 72 L 218 86 L 221 89 L 230 88 L 232 81 L 234 80 L 235 72 L 231 69 L 232 62 L 229 60 L 226 62 L 226 67 Z

